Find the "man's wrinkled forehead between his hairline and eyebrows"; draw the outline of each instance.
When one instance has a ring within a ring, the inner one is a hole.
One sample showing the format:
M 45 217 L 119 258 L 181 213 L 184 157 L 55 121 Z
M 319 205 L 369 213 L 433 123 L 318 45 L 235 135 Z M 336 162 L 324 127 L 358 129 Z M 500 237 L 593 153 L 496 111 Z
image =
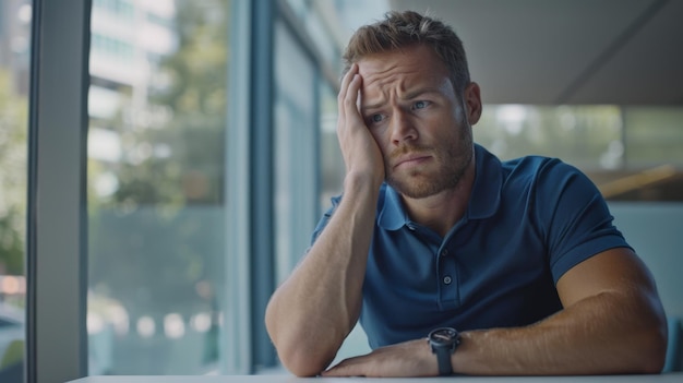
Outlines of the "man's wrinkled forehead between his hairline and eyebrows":
M 441 87 L 450 80 L 443 61 L 431 48 L 420 45 L 368 56 L 358 61 L 358 71 L 367 96 L 387 89 Z

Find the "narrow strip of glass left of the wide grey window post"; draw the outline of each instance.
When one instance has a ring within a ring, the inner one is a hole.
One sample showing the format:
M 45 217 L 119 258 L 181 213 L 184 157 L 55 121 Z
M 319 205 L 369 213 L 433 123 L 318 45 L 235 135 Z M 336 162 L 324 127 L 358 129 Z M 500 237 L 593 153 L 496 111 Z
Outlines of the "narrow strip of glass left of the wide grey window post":
M 0 3 L 0 382 L 23 382 L 32 2 Z

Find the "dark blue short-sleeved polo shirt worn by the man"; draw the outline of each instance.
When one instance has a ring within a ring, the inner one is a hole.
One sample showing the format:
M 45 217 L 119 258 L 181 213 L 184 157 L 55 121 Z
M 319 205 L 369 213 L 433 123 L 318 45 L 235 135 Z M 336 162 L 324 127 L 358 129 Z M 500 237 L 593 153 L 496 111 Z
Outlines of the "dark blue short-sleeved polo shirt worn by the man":
M 415 223 L 384 184 L 363 284 L 360 323 L 372 348 L 440 326 L 527 325 L 562 308 L 555 284 L 574 265 L 628 247 L 595 184 L 556 158 L 501 161 L 475 145 L 464 217 L 442 238 Z M 340 198 L 317 225 L 325 227 Z

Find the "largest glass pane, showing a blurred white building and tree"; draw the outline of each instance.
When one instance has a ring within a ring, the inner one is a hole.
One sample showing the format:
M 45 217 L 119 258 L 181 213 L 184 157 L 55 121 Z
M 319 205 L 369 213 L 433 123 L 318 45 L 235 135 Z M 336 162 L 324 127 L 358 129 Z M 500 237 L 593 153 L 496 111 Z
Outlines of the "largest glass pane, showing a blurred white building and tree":
M 89 374 L 218 369 L 228 0 L 95 0 Z

